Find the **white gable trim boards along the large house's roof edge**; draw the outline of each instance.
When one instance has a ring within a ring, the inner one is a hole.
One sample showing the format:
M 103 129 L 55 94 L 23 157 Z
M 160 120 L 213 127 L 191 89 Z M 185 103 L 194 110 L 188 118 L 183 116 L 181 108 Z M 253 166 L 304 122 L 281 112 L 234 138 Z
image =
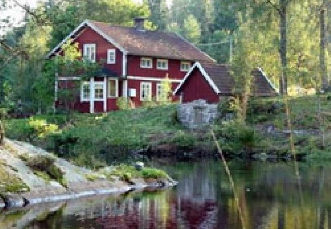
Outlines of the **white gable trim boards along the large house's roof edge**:
M 114 41 L 111 37 L 103 33 L 97 26 L 95 26 L 93 23 L 91 23 L 89 20 L 85 20 L 81 22 L 74 31 L 72 31 L 65 39 L 63 39 L 55 48 L 53 48 L 47 55 L 46 58 L 49 58 L 53 53 L 55 53 L 61 46 L 69 39 L 71 38 L 74 34 L 76 34 L 82 27 L 85 25 L 88 25 L 92 30 L 94 30 L 96 33 L 98 33 L 101 37 L 106 39 L 107 41 L 111 42 L 115 47 L 120 49 L 123 54 L 127 54 L 127 50 L 125 50 L 122 46 L 120 46 L 117 42 Z

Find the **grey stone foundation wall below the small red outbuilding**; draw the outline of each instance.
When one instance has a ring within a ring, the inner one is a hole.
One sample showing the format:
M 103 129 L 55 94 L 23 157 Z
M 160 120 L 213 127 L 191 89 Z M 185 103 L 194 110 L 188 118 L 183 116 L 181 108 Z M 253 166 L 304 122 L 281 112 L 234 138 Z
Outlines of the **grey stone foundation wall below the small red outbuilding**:
M 207 103 L 204 99 L 191 103 L 179 104 L 177 108 L 178 120 L 190 129 L 207 126 L 219 117 L 218 104 Z

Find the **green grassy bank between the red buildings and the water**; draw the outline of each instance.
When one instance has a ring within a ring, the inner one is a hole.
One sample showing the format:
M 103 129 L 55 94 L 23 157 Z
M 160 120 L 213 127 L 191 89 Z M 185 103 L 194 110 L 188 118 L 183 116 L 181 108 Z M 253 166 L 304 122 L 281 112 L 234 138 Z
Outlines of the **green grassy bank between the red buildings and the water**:
M 309 158 L 331 158 L 331 102 L 327 96 L 289 100 L 290 116 L 299 154 Z M 231 112 L 231 111 L 228 111 Z M 216 121 L 213 129 L 227 155 L 251 153 L 289 155 L 288 127 L 282 98 L 253 99 L 246 125 Z M 143 107 L 90 115 L 48 115 L 7 120 L 7 137 L 29 141 L 75 164 L 93 168 L 127 161 L 130 152 L 146 149 L 213 151 L 208 131 L 190 131 L 177 121 L 176 105 Z M 267 127 L 273 126 L 271 132 Z

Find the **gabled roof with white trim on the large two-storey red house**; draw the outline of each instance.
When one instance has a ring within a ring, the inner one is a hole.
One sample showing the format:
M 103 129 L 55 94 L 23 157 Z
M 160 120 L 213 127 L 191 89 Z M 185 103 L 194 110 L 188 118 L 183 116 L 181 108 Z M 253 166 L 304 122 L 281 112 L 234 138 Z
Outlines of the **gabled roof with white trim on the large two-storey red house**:
M 115 26 L 104 22 L 82 22 L 68 37 L 66 37 L 49 54 L 58 51 L 69 38 L 79 34 L 85 26 L 92 28 L 107 41 L 113 43 L 125 54 L 153 56 L 167 59 L 187 61 L 214 62 L 214 60 L 184 38 L 174 33 L 159 31 L 140 31 L 134 27 Z

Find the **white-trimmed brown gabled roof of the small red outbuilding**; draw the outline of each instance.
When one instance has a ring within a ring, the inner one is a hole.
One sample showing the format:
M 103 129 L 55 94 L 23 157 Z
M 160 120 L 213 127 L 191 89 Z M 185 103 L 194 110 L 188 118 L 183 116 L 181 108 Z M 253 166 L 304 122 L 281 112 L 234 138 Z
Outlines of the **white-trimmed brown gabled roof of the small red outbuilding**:
M 230 67 L 228 65 L 218 65 L 213 63 L 199 63 L 196 62 L 194 66 L 187 72 L 184 79 L 180 82 L 176 88 L 174 94 L 177 94 L 184 85 L 185 81 L 190 77 L 191 73 L 198 69 L 210 87 L 216 94 L 233 95 L 233 89 L 235 87 L 235 80 L 230 73 Z M 261 68 L 257 68 L 252 71 L 254 75 L 254 95 L 256 96 L 273 96 L 277 95 L 277 89 L 272 82 L 267 78 Z

